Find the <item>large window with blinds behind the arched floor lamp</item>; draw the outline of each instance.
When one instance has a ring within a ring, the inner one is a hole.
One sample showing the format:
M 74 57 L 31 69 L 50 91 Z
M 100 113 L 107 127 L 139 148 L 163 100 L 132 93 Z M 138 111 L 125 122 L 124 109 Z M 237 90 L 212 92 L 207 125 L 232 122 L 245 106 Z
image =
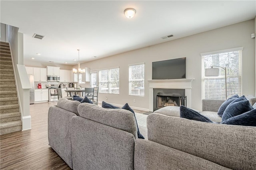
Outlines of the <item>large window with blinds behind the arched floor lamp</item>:
M 202 99 L 226 99 L 225 70 L 219 68 L 218 77 L 205 77 L 205 69 L 211 66 L 226 67 L 227 97 L 242 93 L 242 47 L 202 55 Z

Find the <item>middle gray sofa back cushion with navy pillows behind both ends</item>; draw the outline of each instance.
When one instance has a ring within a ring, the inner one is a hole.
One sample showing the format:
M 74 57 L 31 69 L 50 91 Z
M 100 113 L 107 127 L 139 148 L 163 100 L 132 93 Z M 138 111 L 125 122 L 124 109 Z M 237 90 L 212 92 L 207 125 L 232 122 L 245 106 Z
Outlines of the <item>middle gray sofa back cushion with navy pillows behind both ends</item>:
M 138 138 L 135 117 L 125 109 L 104 109 L 94 104 L 81 103 L 78 106 L 81 117 L 130 132 Z

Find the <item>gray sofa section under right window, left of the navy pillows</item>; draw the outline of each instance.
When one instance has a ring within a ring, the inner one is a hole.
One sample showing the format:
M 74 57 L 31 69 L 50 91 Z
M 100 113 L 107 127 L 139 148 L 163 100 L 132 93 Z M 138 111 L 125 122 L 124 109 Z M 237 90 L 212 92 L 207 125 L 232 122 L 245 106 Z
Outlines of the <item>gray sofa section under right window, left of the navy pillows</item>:
M 218 109 L 225 100 L 202 99 L 202 111 L 218 112 Z

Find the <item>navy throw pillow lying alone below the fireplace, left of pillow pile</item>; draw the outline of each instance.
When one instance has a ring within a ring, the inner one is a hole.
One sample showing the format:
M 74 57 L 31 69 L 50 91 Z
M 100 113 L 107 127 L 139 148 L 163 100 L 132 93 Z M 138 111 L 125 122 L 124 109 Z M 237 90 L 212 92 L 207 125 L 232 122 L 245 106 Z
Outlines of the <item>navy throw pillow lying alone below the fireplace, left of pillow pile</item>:
M 183 105 L 180 105 L 180 117 L 194 120 L 194 121 L 212 123 L 212 121 L 208 119 L 208 117 L 205 117 L 204 115 L 201 115 L 197 111 L 194 111 L 193 109 L 189 109 L 188 107 L 185 107 Z

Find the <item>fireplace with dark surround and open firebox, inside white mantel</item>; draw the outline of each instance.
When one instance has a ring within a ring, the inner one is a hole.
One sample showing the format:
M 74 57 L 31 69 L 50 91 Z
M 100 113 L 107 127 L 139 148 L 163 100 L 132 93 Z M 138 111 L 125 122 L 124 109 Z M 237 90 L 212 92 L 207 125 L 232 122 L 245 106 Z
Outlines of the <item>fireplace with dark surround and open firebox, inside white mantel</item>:
M 153 89 L 153 111 L 166 106 L 184 105 L 185 89 Z

